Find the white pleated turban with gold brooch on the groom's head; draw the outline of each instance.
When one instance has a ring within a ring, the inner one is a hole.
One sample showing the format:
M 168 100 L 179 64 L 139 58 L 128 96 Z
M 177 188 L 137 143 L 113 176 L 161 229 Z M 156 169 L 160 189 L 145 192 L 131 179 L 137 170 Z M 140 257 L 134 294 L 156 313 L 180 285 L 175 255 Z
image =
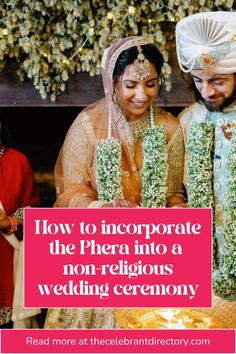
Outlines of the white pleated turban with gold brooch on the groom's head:
M 236 12 L 202 12 L 180 20 L 176 50 L 185 72 L 236 73 Z

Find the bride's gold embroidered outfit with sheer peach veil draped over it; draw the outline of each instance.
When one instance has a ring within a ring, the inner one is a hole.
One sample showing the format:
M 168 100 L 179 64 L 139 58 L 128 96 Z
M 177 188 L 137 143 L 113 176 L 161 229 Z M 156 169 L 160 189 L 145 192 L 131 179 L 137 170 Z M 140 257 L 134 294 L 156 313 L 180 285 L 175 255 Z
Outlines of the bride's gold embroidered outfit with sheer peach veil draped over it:
M 102 76 L 105 98 L 86 107 L 70 127 L 55 167 L 57 200 L 55 207 L 101 207 L 96 183 L 96 149 L 107 138 L 108 117 L 112 137 L 121 143 L 121 183 L 124 199 L 141 205 L 143 165 L 142 135 L 150 127 L 149 110 L 129 123 L 114 99 L 111 72 L 119 53 L 135 46 L 137 37 L 129 37 L 105 51 Z M 182 130 L 175 117 L 154 105 L 155 123 L 164 125 L 168 155 L 167 200 L 183 197 L 184 144 Z M 183 199 L 183 198 L 182 198 Z M 79 305 L 79 299 L 78 299 Z M 124 304 L 125 305 L 125 304 Z M 115 328 L 113 309 L 49 309 L 46 328 Z

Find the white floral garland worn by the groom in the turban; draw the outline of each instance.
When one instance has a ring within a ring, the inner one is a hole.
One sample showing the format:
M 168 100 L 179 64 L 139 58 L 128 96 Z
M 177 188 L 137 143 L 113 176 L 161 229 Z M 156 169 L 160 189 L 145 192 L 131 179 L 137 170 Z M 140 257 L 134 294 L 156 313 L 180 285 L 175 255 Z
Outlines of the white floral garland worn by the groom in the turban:
M 214 126 L 208 122 L 192 121 L 187 144 L 187 191 L 188 203 L 193 208 L 212 207 L 213 165 L 212 148 Z M 232 137 L 227 164 L 228 206 L 224 228 L 224 255 L 217 261 L 217 244 L 213 236 L 213 289 L 221 296 L 236 294 L 236 135 Z

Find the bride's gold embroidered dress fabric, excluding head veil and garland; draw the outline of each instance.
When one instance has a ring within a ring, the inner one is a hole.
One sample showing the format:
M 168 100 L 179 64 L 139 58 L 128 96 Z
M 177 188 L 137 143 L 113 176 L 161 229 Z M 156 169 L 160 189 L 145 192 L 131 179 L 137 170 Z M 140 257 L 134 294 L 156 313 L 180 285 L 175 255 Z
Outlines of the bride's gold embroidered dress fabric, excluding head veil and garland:
M 101 111 L 105 111 L 105 101 L 99 101 Z M 56 164 L 56 186 L 58 198 L 56 207 L 101 207 L 97 202 L 97 187 L 95 176 L 95 150 L 98 141 L 104 138 L 106 118 L 92 119 L 90 107 L 85 109 L 74 121 L 65 143 L 61 149 Z M 183 135 L 176 118 L 171 114 L 157 109 L 157 124 L 165 124 L 168 149 L 168 196 L 183 195 Z M 134 139 L 132 130 L 141 132 L 146 128 L 145 122 L 129 124 L 122 117 L 120 124 L 129 137 L 129 155 L 122 153 L 122 185 L 126 200 L 140 204 L 141 202 L 141 172 L 142 172 L 142 134 Z M 143 128 L 142 128 L 143 127 Z M 104 135 L 103 135 L 104 134 Z M 131 163 L 129 163 L 131 161 Z M 49 309 L 46 318 L 46 328 L 115 328 L 113 309 Z

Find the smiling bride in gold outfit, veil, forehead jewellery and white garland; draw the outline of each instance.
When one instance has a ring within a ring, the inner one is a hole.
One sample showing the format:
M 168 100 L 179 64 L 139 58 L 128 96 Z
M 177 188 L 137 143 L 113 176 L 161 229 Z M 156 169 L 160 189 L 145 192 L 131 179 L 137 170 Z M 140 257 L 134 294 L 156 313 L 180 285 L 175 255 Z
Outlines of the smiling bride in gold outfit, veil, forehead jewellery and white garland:
M 105 98 L 70 127 L 55 166 L 55 207 L 172 207 L 184 203 L 182 131 L 156 104 L 163 57 L 142 37 L 107 48 Z M 160 84 L 160 88 L 159 88 Z M 49 309 L 46 328 L 114 328 L 113 309 Z

